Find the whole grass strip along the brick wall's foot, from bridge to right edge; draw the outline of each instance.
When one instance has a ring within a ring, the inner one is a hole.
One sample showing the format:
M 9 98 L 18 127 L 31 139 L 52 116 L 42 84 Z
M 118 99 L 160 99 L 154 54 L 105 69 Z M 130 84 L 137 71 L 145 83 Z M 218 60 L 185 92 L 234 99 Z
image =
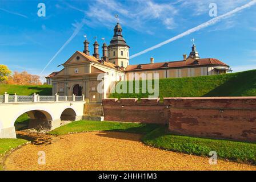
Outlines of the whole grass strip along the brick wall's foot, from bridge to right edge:
M 144 134 L 142 142 L 149 146 L 198 156 L 209 156 L 210 151 L 216 151 L 218 158 L 256 164 L 256 143 L 174 135 L 168 132 L 167 127 L 154 124 L 77 121 L 50 131 L 50 134 L 65 135 L 83 131 L 140 133 Z

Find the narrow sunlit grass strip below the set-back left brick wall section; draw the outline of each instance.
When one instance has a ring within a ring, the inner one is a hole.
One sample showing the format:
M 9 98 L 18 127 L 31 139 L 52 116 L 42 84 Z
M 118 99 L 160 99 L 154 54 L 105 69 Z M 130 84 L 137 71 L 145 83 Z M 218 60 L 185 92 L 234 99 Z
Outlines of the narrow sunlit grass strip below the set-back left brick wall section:
M 53 135 L 65 135 L 68 133 L 84 131 L 124 131 L 130 133 L 146 134 L 159 127 L 154 124 L 119 123 L 109 121 L 76 121 L 50 131 Z

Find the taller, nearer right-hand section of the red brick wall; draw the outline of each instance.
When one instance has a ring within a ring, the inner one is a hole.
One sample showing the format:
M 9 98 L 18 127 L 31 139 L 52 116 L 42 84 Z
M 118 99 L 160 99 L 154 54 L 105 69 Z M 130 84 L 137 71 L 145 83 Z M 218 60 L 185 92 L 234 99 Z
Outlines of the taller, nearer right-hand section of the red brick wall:
M 256 141 L 256 97 L 165 98 L 165 105 L 173 133 Z

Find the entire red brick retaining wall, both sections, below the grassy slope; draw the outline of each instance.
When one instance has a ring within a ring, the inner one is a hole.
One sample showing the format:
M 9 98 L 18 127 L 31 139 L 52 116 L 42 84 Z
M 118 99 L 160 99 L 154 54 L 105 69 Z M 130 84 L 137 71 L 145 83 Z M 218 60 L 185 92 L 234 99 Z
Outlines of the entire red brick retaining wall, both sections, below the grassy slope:
M 256 97 L 103 100 L 106 121 L 169 123 L 173 133 L 256 141 Z

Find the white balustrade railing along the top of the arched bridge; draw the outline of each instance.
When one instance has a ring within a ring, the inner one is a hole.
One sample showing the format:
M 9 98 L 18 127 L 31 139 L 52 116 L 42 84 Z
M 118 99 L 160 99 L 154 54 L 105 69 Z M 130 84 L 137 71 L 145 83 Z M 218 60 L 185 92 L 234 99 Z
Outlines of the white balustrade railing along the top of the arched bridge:
M 85 96 L 39 96 L 38 94 L 33 94 L 32 96 L 17 96 L 16 94 L 10 96 L 5 93 L 0 95 L 0 104 L 3 103 L 16 103 L 16 102 L 75 102 L 75 101 L 85 101 Z M 87 100 L 86 100 L 87 101 Z

